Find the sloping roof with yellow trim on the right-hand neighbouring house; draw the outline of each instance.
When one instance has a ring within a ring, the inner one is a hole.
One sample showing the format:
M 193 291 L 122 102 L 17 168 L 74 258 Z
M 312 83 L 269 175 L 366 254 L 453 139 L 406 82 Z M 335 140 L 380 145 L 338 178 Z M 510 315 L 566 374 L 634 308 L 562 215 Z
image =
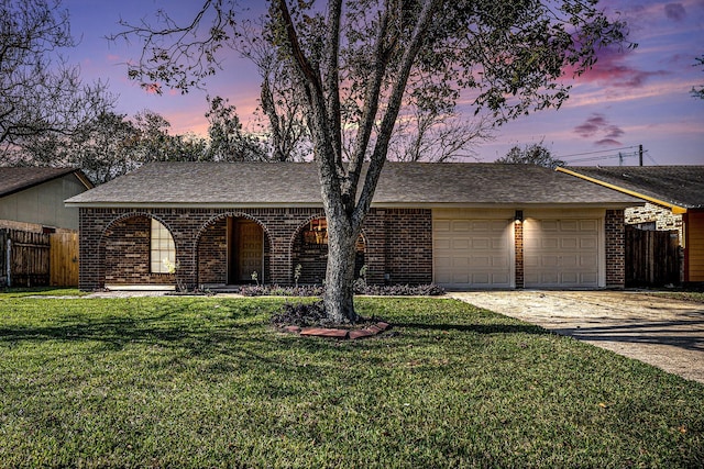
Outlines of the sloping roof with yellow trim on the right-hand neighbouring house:
M 558 170 L 668 206 L 674 213 L 704 208 L 704 166 L 597 166 Z

